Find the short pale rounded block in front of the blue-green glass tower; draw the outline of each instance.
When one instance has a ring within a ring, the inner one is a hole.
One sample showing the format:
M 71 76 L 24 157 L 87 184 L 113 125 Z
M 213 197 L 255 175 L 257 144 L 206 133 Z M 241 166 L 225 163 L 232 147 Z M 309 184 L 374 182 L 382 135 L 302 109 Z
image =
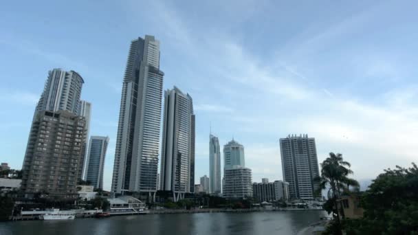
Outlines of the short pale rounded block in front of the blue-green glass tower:
M 223 183 L 223 197 L 245 199 L 252 197 L 252 174 L 250 168 L 234 166 L 225 169 Z

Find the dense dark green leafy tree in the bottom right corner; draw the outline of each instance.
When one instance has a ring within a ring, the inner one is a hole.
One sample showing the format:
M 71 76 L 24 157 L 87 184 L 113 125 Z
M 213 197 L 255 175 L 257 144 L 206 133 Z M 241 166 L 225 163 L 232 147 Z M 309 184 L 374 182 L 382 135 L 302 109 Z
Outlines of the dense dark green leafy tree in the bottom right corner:
M 362 219 L 347 220 L 347 234 L 418 234 L 418 167 L 384 170 L 362 196 Z

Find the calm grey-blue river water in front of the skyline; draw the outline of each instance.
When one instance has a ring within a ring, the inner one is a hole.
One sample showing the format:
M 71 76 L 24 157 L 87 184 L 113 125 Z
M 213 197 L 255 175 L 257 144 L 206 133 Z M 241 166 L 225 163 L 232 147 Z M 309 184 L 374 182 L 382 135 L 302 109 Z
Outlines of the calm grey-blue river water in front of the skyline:
M 296 234 L 315 223 L 322 211 L 150 214 L 74 221 L 0 223 L 0 234 Z

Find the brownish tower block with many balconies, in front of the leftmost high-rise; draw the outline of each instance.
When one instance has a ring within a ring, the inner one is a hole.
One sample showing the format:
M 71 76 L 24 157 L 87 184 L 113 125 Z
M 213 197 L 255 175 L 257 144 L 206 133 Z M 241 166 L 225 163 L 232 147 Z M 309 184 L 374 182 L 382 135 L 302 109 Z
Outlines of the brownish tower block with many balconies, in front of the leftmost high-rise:
M 25 194 L 77 197 L 85 124 L 85 117 L 69 111 L 36 111 L 22 167 Z

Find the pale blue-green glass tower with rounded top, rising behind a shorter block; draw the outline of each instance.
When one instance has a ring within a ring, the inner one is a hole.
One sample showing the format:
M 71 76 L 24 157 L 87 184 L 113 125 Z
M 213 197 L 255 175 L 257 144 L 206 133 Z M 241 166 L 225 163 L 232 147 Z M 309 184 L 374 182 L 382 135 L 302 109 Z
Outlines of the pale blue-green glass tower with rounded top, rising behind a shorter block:
M 223 168 L 225 170 L 232 169 L 233 166 L 245 167 L 244 147 L 232 139 L 232 141 L 223 146 L 223 159 Z

